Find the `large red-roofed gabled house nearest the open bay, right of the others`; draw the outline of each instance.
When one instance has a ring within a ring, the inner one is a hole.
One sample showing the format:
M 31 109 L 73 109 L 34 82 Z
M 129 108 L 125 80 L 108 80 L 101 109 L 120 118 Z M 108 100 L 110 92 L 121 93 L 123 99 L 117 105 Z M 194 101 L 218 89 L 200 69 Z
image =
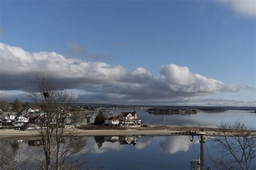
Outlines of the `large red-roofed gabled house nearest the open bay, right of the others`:
M 133 112 L 121 112 L 118 118 L 120 123 L 126 125 L 140 125 L 142 123 L 135 110 Z

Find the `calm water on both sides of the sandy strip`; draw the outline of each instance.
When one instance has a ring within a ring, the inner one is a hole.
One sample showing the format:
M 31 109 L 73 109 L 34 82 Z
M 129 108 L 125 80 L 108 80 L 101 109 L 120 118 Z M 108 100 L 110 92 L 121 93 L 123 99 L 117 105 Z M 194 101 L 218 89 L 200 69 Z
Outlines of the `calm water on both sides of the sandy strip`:
M 117 113 L 120 111 L 133 110 L 118 109 Z M 145 110 L 136 111 L 146 124 L 164 124 L 164 115 L 149 114 Z M 238 110 L 200 111 L 198 114 L 183 116 L 166 115 L 166 125 L 215 127 L 220 122 L 233 123 L 238 119 L 250 128 L 256 129 L 256 114 Z M 193 141 L 189 136 L 78 138 L 82 141 L 82 145 L 76 145 L 74 140 L 74 146 L 77 147 L 77 153 L 74 155 L 85 162 L 82 169 L 190 169 L 190 161 L 197 159 L 200 152 L 198 137 L 194 137 Z M 206 139 L 204 151 L 206 168 L 213 167 L 210 157 L 220 157 L 220 153 L 212 146 L 215 144 Z M 0 155 L 0 166 L 3 165 L 1 161 L 5 160 L 7 165 L 13 165 L 16 169 L 29 164 L 31 165 L 29 169 L 36 169 L 38 160 L 44 158 L 40 141 L 32 140 L 0 140 Z M 13 160 L 19 161 L 14 163 Z M 10 164 L 10 161 L 13 163 Z M 256 161 L 254 160 L 252 164 L 252 169 L 255 169 Z M 9 168 L 0 167 L 0 169 Z

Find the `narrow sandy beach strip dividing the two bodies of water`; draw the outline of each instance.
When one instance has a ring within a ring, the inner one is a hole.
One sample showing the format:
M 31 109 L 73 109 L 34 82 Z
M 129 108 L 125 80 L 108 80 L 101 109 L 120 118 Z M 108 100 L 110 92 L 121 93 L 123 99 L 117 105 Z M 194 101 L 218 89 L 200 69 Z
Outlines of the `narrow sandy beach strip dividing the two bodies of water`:
M 204 129 L 207 135 L 221 136 L 218 128 L 200 128 L 188 126 L 156 126 L 155 128 L 131 128 L 127 130 L 83 130 L 83 129 L 70 129 L 69 134 L 65 136 L 125 136 L 125 135 L 140 135 L 140 136 L 174 136 L 174 135 L 187 135 L 185 131 L 200 131 Z M 71 134 L 70 134 L 71 133 Z M 256 130 L 252 130 L 253 135 L 256 135 Z M 0 129 L 0 140 L 19 140 L 19 139 L 35 139 L 40 138 L 37 130 L 13 130 L 13 129 Z

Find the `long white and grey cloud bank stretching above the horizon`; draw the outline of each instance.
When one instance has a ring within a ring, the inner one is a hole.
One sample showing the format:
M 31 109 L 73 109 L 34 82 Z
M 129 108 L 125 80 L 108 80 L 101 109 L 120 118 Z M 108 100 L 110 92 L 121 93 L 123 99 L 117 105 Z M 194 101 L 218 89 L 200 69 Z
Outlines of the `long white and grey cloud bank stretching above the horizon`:
M 60 87 L 79 89 L 78 97 L 93 101 L 165 101 L 220 92 L 236 92 L 246 86 L 225 84 L 186 66 L 160 68 L 160 77 L 143 67 L 127 71 L 123 66 L 66 58 L 56 52 L 27 52 L 0 43 L 0 90 L 29 89 L 37 75 L 49 74 Z

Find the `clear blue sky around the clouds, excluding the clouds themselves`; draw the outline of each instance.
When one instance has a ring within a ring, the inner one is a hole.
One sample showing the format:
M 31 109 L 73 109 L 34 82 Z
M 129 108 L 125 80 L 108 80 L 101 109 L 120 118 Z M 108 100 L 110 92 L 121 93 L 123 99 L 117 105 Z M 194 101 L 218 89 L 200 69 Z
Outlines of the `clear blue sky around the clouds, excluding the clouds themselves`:
M 255 8 L 250 13 L 235 5 L 231 0 L 0 1 L 0 40 L 28 52 L 120 65 L 127 72 L 143 67 L 154 77 L 162 76 L 161 66 L 174 63 L 251 89 Z M 86 55 L 73 52 L 70 44 Z M 255 101 L 255 90 L 221 91 L 202 98 Z

